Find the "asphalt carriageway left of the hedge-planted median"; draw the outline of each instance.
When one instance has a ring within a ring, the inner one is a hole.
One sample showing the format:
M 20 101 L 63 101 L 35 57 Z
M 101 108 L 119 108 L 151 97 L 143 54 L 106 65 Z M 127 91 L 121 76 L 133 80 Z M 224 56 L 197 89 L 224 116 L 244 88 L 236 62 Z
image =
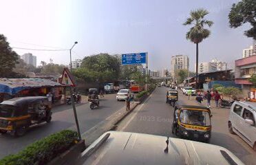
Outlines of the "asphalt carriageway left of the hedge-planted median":
M 81 133 L 88 131 L 93 126 L 108 118 L 112 113 L 125 107 L 125 102 L 117 102 L 116 94 L 105 95 L 100 98 L 99 109 L 89 109 L 89 104 L 76 104 L 78 121 Z M 11 135 L 0 134 L 0 158 L 12 153 L 17 153 L 24 146 L 40 140 L 47 135 L 63 129 L 76 130 L 74 113 L 71 105 L 61 105 L 52 109 L 52 122 L 32 126 L 23 137 L 12 137 Z

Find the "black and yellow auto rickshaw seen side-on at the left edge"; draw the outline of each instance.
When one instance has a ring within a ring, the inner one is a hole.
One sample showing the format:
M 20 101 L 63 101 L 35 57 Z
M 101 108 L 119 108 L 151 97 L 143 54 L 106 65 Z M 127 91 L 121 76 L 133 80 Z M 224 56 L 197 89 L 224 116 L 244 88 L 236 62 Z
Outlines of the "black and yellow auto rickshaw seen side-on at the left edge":
M 52 120 L 52 103 L 47 97 L 12 98 L 0 104 L 0 133 L 24 135 L 28 127 Z

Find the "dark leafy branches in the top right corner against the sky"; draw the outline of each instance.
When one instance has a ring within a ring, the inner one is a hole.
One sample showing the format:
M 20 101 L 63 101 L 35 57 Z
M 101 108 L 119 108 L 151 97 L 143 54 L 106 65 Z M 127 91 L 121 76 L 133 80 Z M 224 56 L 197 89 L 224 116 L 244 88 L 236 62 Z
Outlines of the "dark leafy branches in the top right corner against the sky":
M 242 0 L 237 4 L 233 3 L 231 11 L 228 14 L 229 25 L 231 28 L 237 28 L 245 23 L 250 23 L 253 27 L 244 32 L 244 35 L 253 37 L 256 40 L 256 1 Z

